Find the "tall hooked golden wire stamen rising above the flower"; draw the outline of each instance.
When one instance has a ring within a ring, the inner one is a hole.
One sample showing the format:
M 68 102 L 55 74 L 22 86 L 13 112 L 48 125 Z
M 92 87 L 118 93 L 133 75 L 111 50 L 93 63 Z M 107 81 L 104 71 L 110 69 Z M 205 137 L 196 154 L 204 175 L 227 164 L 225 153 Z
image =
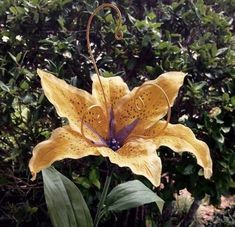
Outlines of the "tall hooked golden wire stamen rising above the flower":
M 90 58 L 91 58 L 91 61 L 93 63 L 93 66 L 95 68 L 95 72 L 98 76 L 98 79 L 99 79 L 99 83 L 100 83 L 100 86 L 101 86 L 101 90 L 102 90 L 102 94 L 103 94 L 103 97 L 104 97 L 104 102 L 105 102 L 105 108 L 106 108 L 106 114 L 108 116 L 108 102 L 107 102 L 107 99 L 106 99 L 106 96 L 105 96 L 105 92 L 104 92 L 104 87 L 102 85 L 102 82 L 101 82 L 101 79 L 100 79 L 100 72 L 99 72 L 99 69 L 96 65 L 96 62 L 95 62 L 95 59 L 94 59 L 94 56 L 92 54 L 92 50 L 91 50 L 91 43 L 90 43 L 90 27 L 91 27 L 91 22 L 92 22 L 92 19 L 93 17 L 102 9 L 104 8 L 113 8 L 117 15 L 118 15 L 118 19 L 117 19 L 117 26 L 116 26 L 116 29 L 115 29 L 115 38 L 117 40 L 120 40 L 123 38 L 123 33 L 121 31 L 121 26 L 122 26 L 122 15 L 121 15 L 121 12 L 120 10 L 118 9 L 117 6 L 115 6 L 114 4 L 111 4 L 111 3 L 104 3 L 102 5 L 100 5 L 99 7 L 97 7 L 95 9 L 95 11 L 91 14 L 91 16 L 89 17 L 89 20 L 88 20 L 88 23 L 87 23 L 87 30 L 86 30 L 86 40 L 87 40 L 87 49 L 88 49 L 88 53 L 90 54 Z

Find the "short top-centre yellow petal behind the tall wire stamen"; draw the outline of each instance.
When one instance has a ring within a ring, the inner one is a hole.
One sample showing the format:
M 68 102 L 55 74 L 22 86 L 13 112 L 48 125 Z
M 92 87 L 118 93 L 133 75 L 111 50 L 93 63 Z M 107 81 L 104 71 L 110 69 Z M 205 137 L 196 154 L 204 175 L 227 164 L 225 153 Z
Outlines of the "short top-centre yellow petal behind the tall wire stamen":
M 97 99 L 98 103 L 104 105 L 104 96 L 97 74 L 92 76 L 92 80 L 92 95 Z M 107 102 L 111 106 L 114 106 L 121 97 L 129 93 L 129 88 L 127 84 L 122 80 L 120 76 L 109 78 L 101 76 L 100 80 L 104 89 Z

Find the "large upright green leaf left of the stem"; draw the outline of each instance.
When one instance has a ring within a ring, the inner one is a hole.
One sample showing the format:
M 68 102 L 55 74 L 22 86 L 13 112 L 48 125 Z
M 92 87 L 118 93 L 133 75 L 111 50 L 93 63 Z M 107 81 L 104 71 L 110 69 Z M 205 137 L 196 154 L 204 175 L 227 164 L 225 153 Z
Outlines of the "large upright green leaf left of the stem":
M 85 200 L 76 185 L 50 167 L 42 171 L 44 193 L 54 227 L 92 227 Z

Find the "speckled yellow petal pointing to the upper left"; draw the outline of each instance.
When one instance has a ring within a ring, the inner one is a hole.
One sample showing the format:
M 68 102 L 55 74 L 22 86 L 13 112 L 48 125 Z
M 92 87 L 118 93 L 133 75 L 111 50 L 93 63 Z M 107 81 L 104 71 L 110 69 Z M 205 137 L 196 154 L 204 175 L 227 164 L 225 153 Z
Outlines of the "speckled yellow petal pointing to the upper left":
M 93 108 L 87 111 L 88 107 L 96 104 L 96 100 L 88 92 L 73 87 L 40 69 L 37 70 L 37 73 L 41 78 L 46 97 L 55 106 L 57 113 L 61 117 L 68 118 L 69 124 L 74 130 L 80 132 L 81 118 L 86 113 L 85 122 L 100 135 L 104 136 L 107 134 L 106 116 L 100 108 Z M 103 125 L 103 127 L 100 127 L 100 125 Z M 85 129 L 85 131 L 88 137 L 89 135 L 94 137 L 94 133 L 90 130 Z

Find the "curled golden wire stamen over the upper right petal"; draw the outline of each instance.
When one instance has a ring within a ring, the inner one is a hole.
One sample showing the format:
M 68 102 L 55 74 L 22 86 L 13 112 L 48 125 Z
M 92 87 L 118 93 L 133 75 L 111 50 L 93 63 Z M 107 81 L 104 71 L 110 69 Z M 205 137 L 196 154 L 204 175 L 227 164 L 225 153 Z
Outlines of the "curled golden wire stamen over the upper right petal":
M 166 99 L 166 102 L 167 102 L 167 106 L 168 106 L 167 120 L 166 120 L 166 124 L 164 125 L 164 127 L 163 127 L 161 130 L 159 130 L 159 132 L 158 132 L 158 135 L 159 135 L 160 133 L 162 133 L 162 132 L 165 130 L 165 128 L 167 127 L 167 125 L 168 125 L 169 122 L 170 122 L 170 118 L 171 118 L 171 104 L 170 104 L 169 98 L 168 98 L 166 92 L 164 91 L 164 89 L 163 89 L 161 86 L 159 86 L 158 84 L 154 84 L 154 83 L 149 82 L 149 83 L 143 84 L 141 87 L 139 87 L 139 88 L 136 90 L 134 99 L 135 99 L 135 107 L 136 107 L 136 109 L 137 109 L 138 111 L 143 110 L 143 108 L 145 107 L 145 105 L 144 105 L 144 100 L 141 98 L 141 96 L 138 96 L 138 94 L 139 94 L 140 90 L 141 90 L 143 87 L 146 87 L 146 86 L 153 86 L 153 87 L 157 88 L 158 90 L 160 90 L 160 91 L 162 92 L 162 94 L 164 95 L 164 97 L 165 97 L 165 99 Z M 137 97 L 137 96 L 138 96 L 138 97 Z M 141 101 L 141 107 L 142 107 L 142 108 L 140 108 L 140 106 L 138 105 L 137 100 L 140 100 L 140 101 Z M 159 121 L 157 121 L 157 122 L 159 122 Z M 157 123 L 157 122 L 156 122 L 156 123 Z M 155 123 L 155 124 L 156 124 L 156 123 Z M 144 138 L 144 139 L 151 138 L 151 136 L 133 135 L 133 136 L 130 136 L 130 137 L 128 138 L 128 140 L 131 139 L 131 138 L 135 138 L 135 137 Z

